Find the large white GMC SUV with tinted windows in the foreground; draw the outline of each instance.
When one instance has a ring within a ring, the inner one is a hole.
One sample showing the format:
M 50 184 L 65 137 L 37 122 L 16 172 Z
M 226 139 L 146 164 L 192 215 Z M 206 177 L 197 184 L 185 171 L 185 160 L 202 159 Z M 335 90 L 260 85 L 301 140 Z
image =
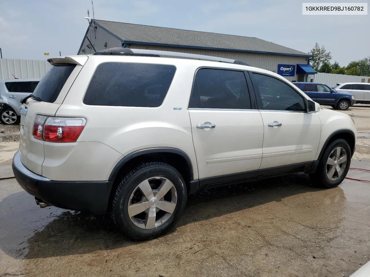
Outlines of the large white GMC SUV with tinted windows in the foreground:
M 199 189 L 294 171 L 330 188 L 349 169 L 353 120 L 270 71 L 128 48 L 48 61 L 21 106 L 17 181 L 42 207 L 109 213 L 131 239 L 167 232 Z

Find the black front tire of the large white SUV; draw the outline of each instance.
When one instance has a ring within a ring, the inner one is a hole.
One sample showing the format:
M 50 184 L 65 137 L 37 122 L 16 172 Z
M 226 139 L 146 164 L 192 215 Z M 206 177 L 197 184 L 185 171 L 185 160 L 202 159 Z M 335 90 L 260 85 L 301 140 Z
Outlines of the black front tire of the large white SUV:
M 343 155 L 346 155 L 346 159 L 344 161 L 345 164 L 340 163 L 340 160 L 337 161 L 338 148 L 340 148 L 339 158 L 343 158 Z M 351 163 L 351 157 L 351 149 L 346 140 L 337 139 L 330 143 L 319 161 L 316 172 L 310 175 L 312 184 L 316 187 L 323 188 L 334 188 L 339 185 L 347 175 Z M 332 161 L 329 161 L 329 158 L 332 159 Z M 333 165 L 331 165 L 332 163 Z M 340 168 L 340 172 L 337 170 L 337 166 Z M 332 173 L 332 178 L 329 179 Z

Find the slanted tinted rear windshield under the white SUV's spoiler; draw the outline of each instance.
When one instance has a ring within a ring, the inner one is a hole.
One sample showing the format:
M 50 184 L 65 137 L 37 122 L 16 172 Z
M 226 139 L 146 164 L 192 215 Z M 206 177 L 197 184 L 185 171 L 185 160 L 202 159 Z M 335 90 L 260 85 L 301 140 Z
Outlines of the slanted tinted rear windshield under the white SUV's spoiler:
M 75 64 L 52 65 L 32 94 L 39 97 L 43 102 L 53 103 L 57 100 L 60 91 L 75 66 Z

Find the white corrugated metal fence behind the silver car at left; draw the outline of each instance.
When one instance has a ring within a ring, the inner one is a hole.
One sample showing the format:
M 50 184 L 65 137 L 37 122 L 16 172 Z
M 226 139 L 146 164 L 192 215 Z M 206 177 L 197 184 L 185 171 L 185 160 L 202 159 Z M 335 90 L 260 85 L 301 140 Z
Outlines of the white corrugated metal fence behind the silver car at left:
M 13 75 L 19 79 L 41 78 L 49 68 L 47 61 L 0 59 L 0 79 L 14 79 Z

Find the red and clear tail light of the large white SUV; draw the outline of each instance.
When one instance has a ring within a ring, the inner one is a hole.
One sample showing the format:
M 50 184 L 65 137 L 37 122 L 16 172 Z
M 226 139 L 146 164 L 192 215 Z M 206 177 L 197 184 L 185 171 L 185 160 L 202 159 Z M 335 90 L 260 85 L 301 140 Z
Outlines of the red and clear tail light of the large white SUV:
M 33 137 L 50 142 L 75 142 L 86 124 L 84 117 L 47 117 L 37 115 Z

